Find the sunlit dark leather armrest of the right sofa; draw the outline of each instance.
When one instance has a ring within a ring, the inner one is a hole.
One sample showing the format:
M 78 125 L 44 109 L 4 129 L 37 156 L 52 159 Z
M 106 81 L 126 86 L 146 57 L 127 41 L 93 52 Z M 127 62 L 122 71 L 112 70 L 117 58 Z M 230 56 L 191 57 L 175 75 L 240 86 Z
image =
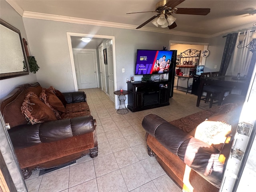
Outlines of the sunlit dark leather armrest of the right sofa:
M 177 155 L 200 176 L 212 185 L 220 187 L 224 165 L 218 161 L 220 154 L 216 148 L 192 137 L 154 114 L 145 116 L 142 126 L 162 146 Z

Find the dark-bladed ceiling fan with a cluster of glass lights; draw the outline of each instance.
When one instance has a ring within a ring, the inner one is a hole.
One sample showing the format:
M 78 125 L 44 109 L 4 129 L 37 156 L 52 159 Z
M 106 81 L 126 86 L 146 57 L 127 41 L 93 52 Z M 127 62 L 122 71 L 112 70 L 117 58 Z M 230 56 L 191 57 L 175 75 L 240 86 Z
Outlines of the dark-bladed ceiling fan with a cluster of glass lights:
M 144 25 L 148 24 L 150 21 L 158 27 L 160 25 L 162 28 L 168 26 L 169 29 L 173 29 L 177 26 L 175 20 L 176 18 L 172 14 L 190 14 L 190 15 L 207 15 L 210 13 L 210 8 L 175 8 L 177 5 L 181 4 L 185 0 L 163 0 L 156 4 L 156 10 L 145 11 L 145 12 L 134 12 L 134 13 L 147 13 L 156 12 L 154 16 L 142 23 L 136 29 L 142 28 Z M 126 14 L 134 14 L 126 13 Z

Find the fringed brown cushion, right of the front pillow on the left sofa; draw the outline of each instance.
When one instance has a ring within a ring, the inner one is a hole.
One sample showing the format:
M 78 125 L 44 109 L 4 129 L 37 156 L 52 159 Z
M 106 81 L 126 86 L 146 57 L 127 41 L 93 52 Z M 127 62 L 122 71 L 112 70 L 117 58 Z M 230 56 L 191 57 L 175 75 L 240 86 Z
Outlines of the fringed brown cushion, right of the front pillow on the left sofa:
M 56 117 L 60 119 L 60 114 L 64 113 L 66 111 L 64 105 L 60 101 L 60 99 L 52 93 L 50 90 L 47 90 L 45 88 L 42 89 L 42 92 L 39 95 L 39 98 L 48 106 L 51 108 L 51 110 L 54 112 Z

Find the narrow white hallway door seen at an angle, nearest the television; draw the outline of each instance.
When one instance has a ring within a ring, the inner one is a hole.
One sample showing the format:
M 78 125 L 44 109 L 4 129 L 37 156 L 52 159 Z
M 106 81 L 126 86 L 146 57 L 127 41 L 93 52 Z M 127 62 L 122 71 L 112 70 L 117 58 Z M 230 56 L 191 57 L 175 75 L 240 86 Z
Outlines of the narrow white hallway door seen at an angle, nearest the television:
M 107 40 L 107 61 L 108 61 L 108 87 L 109 99 L 115 103 L 114 95 L 114 62 L 113 62 L 113 45 L 112 40 Z

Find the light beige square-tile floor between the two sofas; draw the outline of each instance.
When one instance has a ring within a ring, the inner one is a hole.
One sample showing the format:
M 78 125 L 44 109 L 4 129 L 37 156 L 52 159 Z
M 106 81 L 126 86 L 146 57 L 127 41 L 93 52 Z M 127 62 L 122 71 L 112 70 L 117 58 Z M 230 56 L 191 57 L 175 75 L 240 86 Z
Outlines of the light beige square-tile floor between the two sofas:
M 85 89 L 91 115 L 97 121 L 98 156 L 86 155 L 75 164 L 39 176 L 33 171 L 26 182 L 29 192 L 181 192 L 154 157 L 148 156 L 141 122 L 157 114 L 168 122 L 208 108 L 196 107 L 195 95 L 174 90 L 170 106 L 117 114 L 100 89 Z

